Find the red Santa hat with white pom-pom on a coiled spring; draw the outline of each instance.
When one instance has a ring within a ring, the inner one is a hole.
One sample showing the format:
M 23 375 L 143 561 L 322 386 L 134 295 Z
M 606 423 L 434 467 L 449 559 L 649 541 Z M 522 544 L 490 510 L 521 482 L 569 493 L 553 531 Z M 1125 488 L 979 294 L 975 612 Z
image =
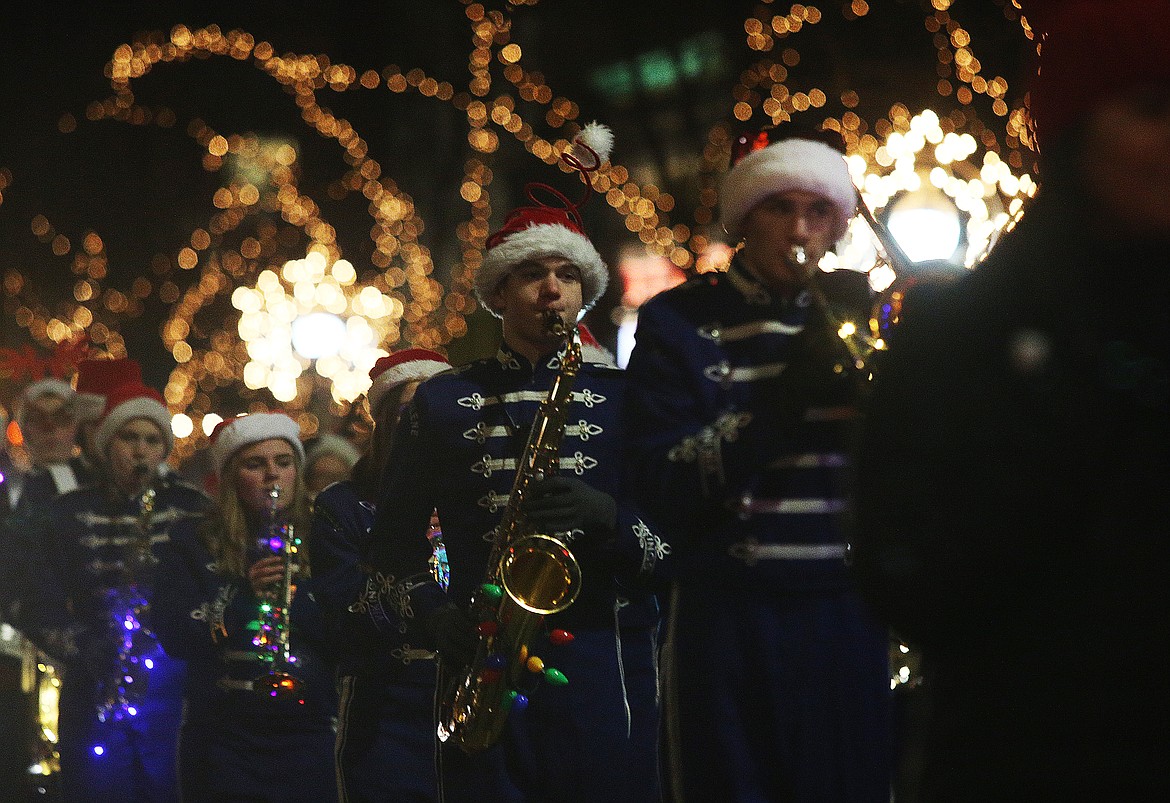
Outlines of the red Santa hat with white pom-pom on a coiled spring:
M 483 265 L 475 274 L 475 295 L 484 309 L 500 317 L 490 303 L 500 282 L 517 265 L 543 256 L 562 256 L 581 272 L 585 309 L 605 294 L 610 269 L 585 233 L 579 210 L 592 192 L 590 174 L 608 159 L 612 147 L 613 132 L 593 122 L 573 138 L 569 150 L 562 155 L 562 160 L 585 178 L 585 195 L 578 204 L 546 184 L 532 183 L 525 187 L 525 194 L 535 206 L 521 206 L 509 213 L 500 231 L 488 238 Z M 545 204 L 537 198 L 537 191 L 553 197 L 560 206 Z

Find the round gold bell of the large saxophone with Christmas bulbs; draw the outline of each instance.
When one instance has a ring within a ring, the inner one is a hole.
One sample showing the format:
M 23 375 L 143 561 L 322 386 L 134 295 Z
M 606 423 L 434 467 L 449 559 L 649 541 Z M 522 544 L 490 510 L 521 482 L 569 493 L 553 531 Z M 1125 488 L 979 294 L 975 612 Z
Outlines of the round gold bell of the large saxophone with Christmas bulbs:
M 517 538 L 500 564 L 504 591 L 532 613 L 558 613 L 573 604 L 580 591 L 581 569 L 560 541 L 532 534 Z

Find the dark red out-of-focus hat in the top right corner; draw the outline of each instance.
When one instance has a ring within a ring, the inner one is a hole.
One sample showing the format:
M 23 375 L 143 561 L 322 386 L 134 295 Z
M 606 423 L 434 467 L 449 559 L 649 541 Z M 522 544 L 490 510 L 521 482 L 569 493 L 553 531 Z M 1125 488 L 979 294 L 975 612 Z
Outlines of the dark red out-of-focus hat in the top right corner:
M 1170 84 L 1170 0 L 1025 0 L 1042 36 L 1028 108 L 1037 144 L 1059 142 L 1103 98 Z

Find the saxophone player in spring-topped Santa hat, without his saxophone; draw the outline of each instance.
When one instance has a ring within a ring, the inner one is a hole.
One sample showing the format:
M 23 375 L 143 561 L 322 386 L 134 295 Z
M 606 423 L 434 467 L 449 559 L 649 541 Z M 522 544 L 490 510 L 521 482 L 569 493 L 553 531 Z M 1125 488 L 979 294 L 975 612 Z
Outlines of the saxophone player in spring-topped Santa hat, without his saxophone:
M 601 160 L 591 159 L 594 169 Z M 481 623 L 467 605 L 484 581 L 518 459 L 562 369 L 564 335 L 550 331 L 550 313 L 564 327 L 576 324 L 608 279 L 577 205 L 556 195 L 563 206 L 514 210 L 488 239 L 475 291 L 501 321 L 497 352 L 424 382 L 395 431 L 358 609 L 384 634 L 383 663 L 401 660 L 407 645 L 436 648 L 441 675 L 456 677 L 476 654 Z M 470 754 L 441 744 L 446 801 L 658 796 L 658 612 L 638 583 L 666 544 L 622 499 L 622 373 L 586 345 L 572 387 L 565 420 L 549 423 L 564 427 L 558 471 L 534 482 L 524 514 L 529 526 L 569 542 L 580 593 L 546 617 L 528 645 L 544 668 L 529 661 L 535 671 L 517 689 L 528 706 L 511 708 L 500 741 Z M 434 509 L 450 564 L 446 592 L 428 568 L 425 534 Z M 439 694 L 446 689 L 441 679 Z

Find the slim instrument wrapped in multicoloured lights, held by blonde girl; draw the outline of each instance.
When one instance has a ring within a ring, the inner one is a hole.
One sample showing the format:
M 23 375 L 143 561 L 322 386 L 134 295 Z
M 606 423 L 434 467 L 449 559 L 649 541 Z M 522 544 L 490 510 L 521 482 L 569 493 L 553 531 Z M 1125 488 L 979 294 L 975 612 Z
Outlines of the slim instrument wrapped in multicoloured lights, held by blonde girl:
M 297 659 L 291 652 L 289 634 L 292 611 L 294 556 L 301 540 L 292 524 L 276 523 L 276 502 L 281 487 L 268 492 L 268 528 L 259 538 L 261 554 L 281 558 L 283 572 L 276 588 L 260 603 L 260 627 L 252 639 L 253 646 L 269 666 L 268 671 L 253 681 L 253 689 L 266 699 L 300 698 L 304 682 L 292 674 Z

